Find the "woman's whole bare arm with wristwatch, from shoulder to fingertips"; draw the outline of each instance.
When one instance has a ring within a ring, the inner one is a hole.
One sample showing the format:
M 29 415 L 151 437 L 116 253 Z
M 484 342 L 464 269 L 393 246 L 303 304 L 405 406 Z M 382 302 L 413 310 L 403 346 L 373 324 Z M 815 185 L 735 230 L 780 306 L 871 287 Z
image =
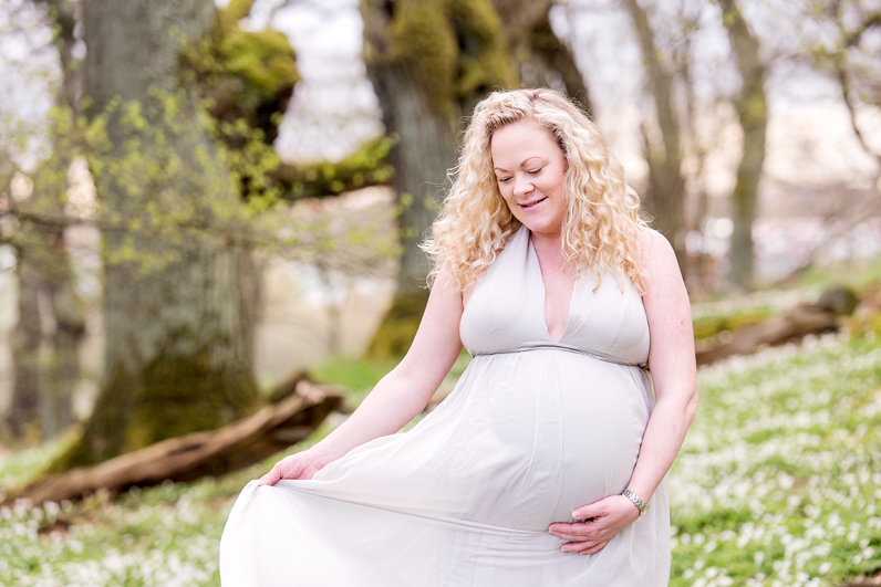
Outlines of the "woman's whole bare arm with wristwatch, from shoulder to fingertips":
M 643 296 L 651 333 L 649 366 L 657 400 L 628 489 L 643 502 L 651 502 L 670 470 L 697 411 L 697 377 L 694 332 L 688 293 L 682 281 L 676 255 L 655 231 L 642 231 L 640 245 L 645 263 Z M 571 541 L 563 552 L 591 554 L 640 516 L 640 510 L 622 495 L 611 495 L 572 513 L 576 524 L 551 524 L 549 531 Z

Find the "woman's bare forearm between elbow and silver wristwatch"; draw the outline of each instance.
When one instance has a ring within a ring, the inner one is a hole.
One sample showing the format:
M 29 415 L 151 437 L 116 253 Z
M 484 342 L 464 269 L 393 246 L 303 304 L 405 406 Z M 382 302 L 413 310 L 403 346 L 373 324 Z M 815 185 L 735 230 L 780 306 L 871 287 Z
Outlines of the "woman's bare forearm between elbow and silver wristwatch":
M 643 501 L 652 499 L 673 464 L 697 410 L 697 395 L 683 399 L 670 396 L 657 401 L 640 448 L 640 457 L 628 488 Z

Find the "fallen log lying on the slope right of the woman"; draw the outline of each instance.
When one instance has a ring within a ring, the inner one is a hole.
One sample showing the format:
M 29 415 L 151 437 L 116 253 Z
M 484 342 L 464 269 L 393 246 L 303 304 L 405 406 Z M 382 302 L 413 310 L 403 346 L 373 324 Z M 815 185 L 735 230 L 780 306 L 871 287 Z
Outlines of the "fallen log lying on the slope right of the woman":
M 782 316 L 735 331 L 728 340 L 695 353 L 697 365 L 709 365 L 734 355 L 752 355 L 765 346 L 779 346 L 808 335 L 836 332 L 840 315 L 853 312 L 856 296 L 843 287 L 828 290 L 813 304 L 801 304 Z

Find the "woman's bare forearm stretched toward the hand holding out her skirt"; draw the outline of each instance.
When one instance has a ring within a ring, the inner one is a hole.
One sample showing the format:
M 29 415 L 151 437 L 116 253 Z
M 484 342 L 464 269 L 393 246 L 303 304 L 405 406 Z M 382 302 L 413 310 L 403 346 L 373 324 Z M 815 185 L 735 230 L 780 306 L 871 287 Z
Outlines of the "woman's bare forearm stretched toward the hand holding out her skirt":
M 424 386 L 424 381 L 422 384 Z M 400 373 L 390 373 L 345 422 L 315 446 L 315 450 L 332 461 L 365 442 L 397 432 L 431 399 L 434 390 L 418 387 Z

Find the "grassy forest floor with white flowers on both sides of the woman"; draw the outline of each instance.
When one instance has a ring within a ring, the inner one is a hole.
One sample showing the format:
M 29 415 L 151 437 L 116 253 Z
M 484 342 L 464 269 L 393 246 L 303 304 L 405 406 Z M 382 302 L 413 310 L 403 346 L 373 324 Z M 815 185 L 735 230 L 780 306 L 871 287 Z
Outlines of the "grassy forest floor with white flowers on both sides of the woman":
M 390 367 L 334 359 L 313 375 L 345 386 L 356 403 Z M 830 335 L 735 357 L 702 368 L 698 388 L 698 416 L 670 473 L 672 586 L 856 585 L 881 568 L 881 340 Z M 62 443 L 0 454 L 0 490 L 38 472 Z M 0 509 L 0 585 L 217 586 L 232 502 L 282 455 L 114 501 Z

